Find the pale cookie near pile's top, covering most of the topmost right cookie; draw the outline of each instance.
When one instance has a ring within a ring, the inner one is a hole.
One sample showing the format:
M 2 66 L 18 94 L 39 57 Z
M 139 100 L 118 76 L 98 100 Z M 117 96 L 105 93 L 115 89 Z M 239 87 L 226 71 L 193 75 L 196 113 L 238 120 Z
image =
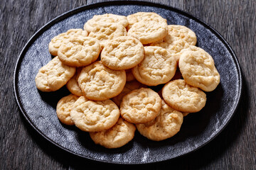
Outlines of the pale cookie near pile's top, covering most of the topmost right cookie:
M 127 35 L 137 38 L 146 45 L 163 39 L 168 32 L 166 21 L 158 18 L 145 18 L 138 23 L 134 23 L 128 30 Z

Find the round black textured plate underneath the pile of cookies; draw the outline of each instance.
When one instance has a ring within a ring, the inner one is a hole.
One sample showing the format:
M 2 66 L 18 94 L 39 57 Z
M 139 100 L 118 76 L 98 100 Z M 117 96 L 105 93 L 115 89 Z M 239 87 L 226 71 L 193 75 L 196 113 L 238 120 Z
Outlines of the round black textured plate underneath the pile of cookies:
M 63 125 L 55 114 L 58 100 L 69 94 L 59 91 L 43 93 L 36 89 L 35 77 L 51 60 L 48 43 L 70 28 L 83 28 L 95 14 L 116 13 L 127 16 L 138 11 L 152 11 L 169 24 L 187 26 L 198 38 L 197 46 L 210 53 L 220 73 L 220 84 L 207 93 L 206 107 L 184 118 L 181 131 L 161 142 L 147 140 L 136 132 L 134 140 L 118 149 L 95 145 L 87 132 Z M 28 41 L 18 57 L 14 72 L 14 93 L 21 112 L 43 137 L 65 151 L 86 159 L 116 164 L 144 164 L 180 157 L 206 145 L 220 133 L 232 118 L 242 90 L 240 67 L 233 50 L 213 28 L 176 8 L 148 2 L 116 1 L 82 6 L 55 18 Z

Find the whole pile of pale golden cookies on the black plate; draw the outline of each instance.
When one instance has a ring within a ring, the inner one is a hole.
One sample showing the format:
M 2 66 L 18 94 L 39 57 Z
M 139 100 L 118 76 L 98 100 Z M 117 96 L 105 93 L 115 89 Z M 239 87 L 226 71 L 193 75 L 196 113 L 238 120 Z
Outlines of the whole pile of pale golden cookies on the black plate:
M 183 116 L 201 111 L 220 82 L 213 58 L 196 47 L 196 34 L 167 25 L 156 13 L 93 16 L 49 43 L 53 60 L 39 69 L 36 87 L 70 95 L 58 102 L 61 123 L 90 132 L 107 148 L 126 145 L 137 129 L 166 140 Z M 151 87 L 164 84 L 160 91 Z

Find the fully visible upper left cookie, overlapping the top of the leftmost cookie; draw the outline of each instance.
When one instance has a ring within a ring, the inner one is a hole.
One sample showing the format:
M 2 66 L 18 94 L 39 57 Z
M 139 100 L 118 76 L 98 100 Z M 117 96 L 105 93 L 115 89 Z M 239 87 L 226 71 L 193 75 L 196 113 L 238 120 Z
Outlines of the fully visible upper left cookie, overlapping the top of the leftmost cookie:
M 100 55 L 100 42 L 95 38 L 76 36 L 60 45 L 58 57 L 61 62 L 72 67 L 84 67 L 95 62 Z

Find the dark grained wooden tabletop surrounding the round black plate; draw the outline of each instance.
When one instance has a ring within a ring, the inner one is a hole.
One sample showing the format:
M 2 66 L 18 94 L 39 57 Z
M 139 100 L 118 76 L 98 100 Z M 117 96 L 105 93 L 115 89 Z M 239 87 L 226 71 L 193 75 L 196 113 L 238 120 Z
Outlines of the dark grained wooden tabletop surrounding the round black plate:
M 65 11 L 99 1 L 3 0 L 0 5 L 0 169 L 120 169 L 68 154 L 31 128 L 18 109 L 14 67 L 23 46 Z M 178 159 L 128 166 L 139 169 L 256 169 L 256 1 L 151 1 L 174 6 L 215 28 L 235 51 L 242 69 L 242 100 L 234 117 L 208 145 Z

